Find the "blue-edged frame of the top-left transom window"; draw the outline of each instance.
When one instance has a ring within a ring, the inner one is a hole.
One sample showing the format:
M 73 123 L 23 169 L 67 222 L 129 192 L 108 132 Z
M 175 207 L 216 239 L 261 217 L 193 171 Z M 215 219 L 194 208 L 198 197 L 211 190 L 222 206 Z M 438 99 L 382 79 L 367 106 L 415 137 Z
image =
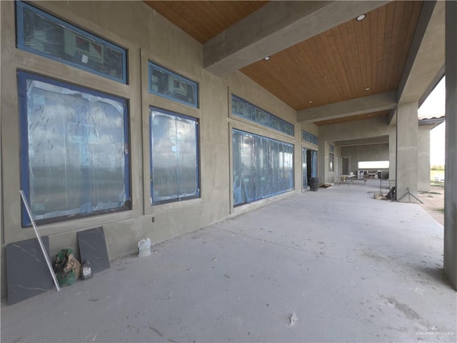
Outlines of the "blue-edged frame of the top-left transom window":
M 51 54 L 46 54 L 43 51 L 39 51 L 37 49 L 33 49 L 29 46 L 26 46 L 24 44 L 24 9 L 29 9 L 29 11 L 33 11 L 36 14 L 39 14 L 40 16 L 44 16 L 44 18 L 49 19 L 50 21 L 53 21 L 54 23 L 64 26 L 64 29 L 68 29 L 70 31 L 74 31 L 77 34 L 81 34 L 81 36 L 86 36 L 88 39 L 94 40 L 98 42 L 99 44 L 109 46 L 111 49 L 114 49 L 116 51 L 119 51 L 122 56 L 122 78 L 119 79 L 115 76 L 111 76 L 109 74 L 104 74 L 101 73 L 100 71 L 96 71 L 94 69 L 91 69 L 87 66 L 81 65 L 81 64 L 76 64 L 72 61 L 66 61 L 65 59 L 60 59 L 59 57 L 53 56 Z M 28 51 L 32 54 L 36 54 L 42 57 L 45 57 L 47 59 L 52 59 L 54 61 L 58 61 L 63 64 L 67 64 L 69 66 L 73 66 L 78 69 L 82 69 L 84 71 L 89 71 L 92 74 L 96 74 L 98 76 L 103 76 L 107 79 L 111 79 L 114 81 L 118 81 L 122 84 L 128 84 L 128 75 L 127 75 L 127 50 L 124 49 L 123 47 L 116 45 L 114 43 L 111 43 L 111 41 L 108 41 L 106 39 L 103 39 L 99 36 L 96 36 L 94 34 L 91 34 L 89 31 L 86 31 L 84 29 L 80 29 L 77 26 L 74 26 L 73 24 L 70 24 L 68 21 L 64 21 L 62 19 L 59 19 L 58 17 L 47 13 L 46 11 L 43 11 L 41 9 L 36 8 L 35 6 L 31 6 L 30 4 L 25 3 L 24 1 L 16 1 L 16 46 L 18 49 Z

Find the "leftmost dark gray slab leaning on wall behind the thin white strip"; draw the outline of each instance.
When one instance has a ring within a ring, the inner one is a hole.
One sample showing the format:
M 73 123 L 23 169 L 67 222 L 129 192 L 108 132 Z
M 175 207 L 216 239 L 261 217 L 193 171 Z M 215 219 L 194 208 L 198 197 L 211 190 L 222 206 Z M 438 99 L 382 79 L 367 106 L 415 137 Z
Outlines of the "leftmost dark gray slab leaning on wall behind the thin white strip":
M 49 257 L 49 237 L 41 237 Z M 16 304 L 54 287 L 38 239 L 8 244 L 5 247 L 8 304 Z

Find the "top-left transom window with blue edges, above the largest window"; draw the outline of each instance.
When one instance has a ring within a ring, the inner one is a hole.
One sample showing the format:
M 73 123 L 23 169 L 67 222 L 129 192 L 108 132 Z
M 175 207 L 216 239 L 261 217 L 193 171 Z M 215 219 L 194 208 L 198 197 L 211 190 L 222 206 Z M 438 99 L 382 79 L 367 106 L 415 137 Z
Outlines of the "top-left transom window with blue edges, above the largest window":
M 125 49 L 22 1 L 16 26 L 19 49 L 127 83 Z

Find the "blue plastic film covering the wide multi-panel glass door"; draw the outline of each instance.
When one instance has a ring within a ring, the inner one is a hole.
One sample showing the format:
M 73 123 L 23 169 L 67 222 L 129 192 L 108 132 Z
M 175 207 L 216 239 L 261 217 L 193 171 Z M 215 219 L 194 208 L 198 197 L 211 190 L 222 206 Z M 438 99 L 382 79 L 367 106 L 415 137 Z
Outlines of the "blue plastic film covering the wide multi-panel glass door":
M 232 130 L 233 206 L 293 189 L 293 144 Z

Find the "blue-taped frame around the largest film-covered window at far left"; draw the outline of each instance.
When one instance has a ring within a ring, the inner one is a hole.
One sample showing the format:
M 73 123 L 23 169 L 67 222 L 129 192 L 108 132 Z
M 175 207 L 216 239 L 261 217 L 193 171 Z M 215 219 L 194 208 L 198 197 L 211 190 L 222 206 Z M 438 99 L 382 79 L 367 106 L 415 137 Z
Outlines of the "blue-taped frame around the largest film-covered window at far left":
M 129 134 L 129 101 L 128 99 L 121 98 L 106 94 L 102 91 L 94 91 L 93 89 L 86 88 L 85 86 L 77 86 L 69 84 L 66 81 L 52 79 L 47 76 L 41 76 L 29 71 L 17 70 L 18 81 L 18 102 L 19 102 L 19 169 L 20 169 L 20 187 L 24 191 L 27 201 L 30 203 L 30 169 L 29 169 L 29 125 L 28 125 L 28 101 L 27 101 L 27 80 L 41 81 L 46 84 L 60 86 L 65 89 L 73 91 L 84 92 L 93 96 L 104 97 L 113 101 L 120 101 L 123 103 L 123 123 L 124 123 L 124 187 L 126 193 L 126 202 L 124 206 L 114 209 L 101 209 L 94 212 L 84 212 L 79 214 L 67 214 L 59 217 L 49 217 L 44 219 L 35 220 L 37 225 L 51 224 L 56 222 L 65 222 L 71 219 L 81 219 L 85 217 L 95 217 L 101 214 L 109 214 L 114 212 L 124 212 L 132 209 L 132 196 L 131 196 L 131 154 L 130 154 L 130 134 Z M 26 212 L 24 204 L 21 203 L 21 227 L 31 227 L 31 221 Z

